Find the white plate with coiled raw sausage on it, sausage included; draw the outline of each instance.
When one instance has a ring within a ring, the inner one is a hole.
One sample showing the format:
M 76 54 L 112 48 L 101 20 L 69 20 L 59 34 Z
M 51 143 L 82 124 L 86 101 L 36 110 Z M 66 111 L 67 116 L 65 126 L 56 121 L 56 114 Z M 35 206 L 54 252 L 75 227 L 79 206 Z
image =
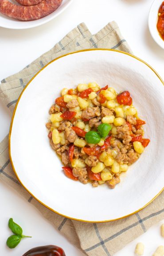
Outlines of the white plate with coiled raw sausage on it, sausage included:
M 57 17 L 73 0 L 0 0 L 0 26 L 34 28 Z

